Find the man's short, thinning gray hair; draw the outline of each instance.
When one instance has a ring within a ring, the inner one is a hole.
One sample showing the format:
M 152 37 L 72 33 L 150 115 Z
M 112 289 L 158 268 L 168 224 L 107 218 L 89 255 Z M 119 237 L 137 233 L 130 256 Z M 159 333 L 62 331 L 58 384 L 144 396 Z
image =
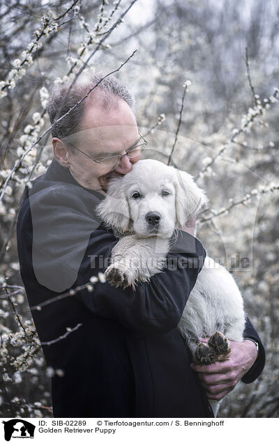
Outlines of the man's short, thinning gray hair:
M 55 86 L 50 94 L 50 100 L 47 103 L 50 123 L 53 124 L 73 108 L 103 77 L 105 77 L 103 72 L 86 72 L 75 81 L 73 86 L 71 86 L 71 81 Z M 70 111 L 61 121 L 54 124 L 52 127 L 52 137 L 58 137 L 66 141 L 70 139 L 71 135 L 79 132 L 84 107 L 88 102 L 100 104 L 104 109 L 110 109 L 111 107 L 117 107 L 119 99 L 124 100 L 130 109 L 134 111 L 135 100 L 128 88 L 112 75 L 105 77 L 105 79 L 100 81 L 100 84 L 93 89 L 88 98 L 78 104 L 75 109 Z

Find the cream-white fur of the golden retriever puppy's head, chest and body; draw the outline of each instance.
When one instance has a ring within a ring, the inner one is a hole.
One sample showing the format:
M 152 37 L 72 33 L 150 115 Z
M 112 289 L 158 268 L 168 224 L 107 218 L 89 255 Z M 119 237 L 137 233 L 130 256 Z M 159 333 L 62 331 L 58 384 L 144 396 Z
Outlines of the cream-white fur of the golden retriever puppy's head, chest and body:
M 163 269 L 176 229 L 206 202 L 192 176 L 156 160 L 140 160 L 126 176 L 112 179 L 98 205 L 98 215 L 120 235 L 107 272 L 118 270 L 132 286 L 149 281 Z M 150 212 L 160 215 L 156 231 L 146 221 Z M 244 325 L 243 299 L 232 275 L 206 257 L 178 325 L 181 334 L 193 352 L 196 339 L 217 330 L 229 340 L 243 341 Z M 210 403 L 216 415 L 220 402 Z

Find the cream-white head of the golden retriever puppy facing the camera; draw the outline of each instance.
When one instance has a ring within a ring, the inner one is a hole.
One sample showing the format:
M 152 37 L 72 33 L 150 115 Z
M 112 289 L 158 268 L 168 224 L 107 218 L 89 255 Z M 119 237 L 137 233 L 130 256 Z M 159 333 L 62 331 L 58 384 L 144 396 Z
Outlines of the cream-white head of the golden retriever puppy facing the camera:
M 169 238 L 206 201 L 188 173 L 157 160 L 140 160 L 126 176 L 110 180 L 98 215 L 120 233 Z

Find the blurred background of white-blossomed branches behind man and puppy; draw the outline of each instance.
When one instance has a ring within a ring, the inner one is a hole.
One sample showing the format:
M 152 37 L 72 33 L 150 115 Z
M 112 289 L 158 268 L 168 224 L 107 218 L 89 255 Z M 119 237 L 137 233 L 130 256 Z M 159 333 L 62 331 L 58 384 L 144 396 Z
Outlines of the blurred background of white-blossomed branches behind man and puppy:
M 52 417 L 15 238 L 24 186 L 52 160 L 48 94 L 85 66 L 117 70 L 135 49 L 115 75 L 135 96 L 146 155 L 167 163 L 173 150 L 206 189 L 197 236 L 234 274 L 266 347 L 264 373 L 219 417 L 278 417 L 278 2 L 2 0 L 0 19 L 2 417 Z

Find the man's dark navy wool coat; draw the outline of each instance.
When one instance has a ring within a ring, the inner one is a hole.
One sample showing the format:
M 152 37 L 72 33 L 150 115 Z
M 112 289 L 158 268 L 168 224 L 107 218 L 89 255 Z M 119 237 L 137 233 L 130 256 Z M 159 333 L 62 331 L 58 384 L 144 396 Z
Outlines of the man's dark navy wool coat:
M 26 189 L 17 219 L 20 272 L 33 320 L 40 341 L 52 341 L 43 344 L 45 360 L 63 371 L 52 379 L 54 417 L 212 417 L 177 329 L 204 248 L 180 233 L 169 251 L 173 270 L 136 290 L 98 281 L 90 292 L 84 285 L 105 271 L 116 243 L 95 214 L 103 198 L 54 160 Z M 181 258 L 188 267 L 175 266 Z M 77 286 L 83 288 L 76 294 L 57 297 Z M 259 359 L 243 378 L 248 383 L 262 372 L 264 348 L 249 320 L 246 336 L 260 345 Z

